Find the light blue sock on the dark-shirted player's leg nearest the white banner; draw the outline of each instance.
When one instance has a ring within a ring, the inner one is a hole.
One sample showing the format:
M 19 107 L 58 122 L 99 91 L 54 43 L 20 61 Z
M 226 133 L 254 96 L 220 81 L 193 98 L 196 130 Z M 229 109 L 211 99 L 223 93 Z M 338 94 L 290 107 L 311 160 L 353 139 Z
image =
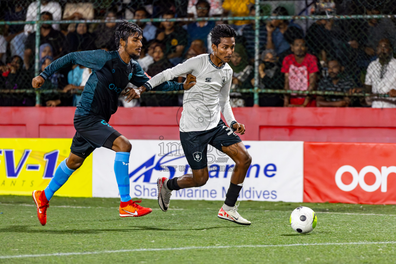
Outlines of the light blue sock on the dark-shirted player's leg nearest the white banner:
M 121 201 L 127 202 L 131 200 L 129 196 L 129 152 L 117 152 L 116 159 L 114 160 L 114 173 L 120 191 Z

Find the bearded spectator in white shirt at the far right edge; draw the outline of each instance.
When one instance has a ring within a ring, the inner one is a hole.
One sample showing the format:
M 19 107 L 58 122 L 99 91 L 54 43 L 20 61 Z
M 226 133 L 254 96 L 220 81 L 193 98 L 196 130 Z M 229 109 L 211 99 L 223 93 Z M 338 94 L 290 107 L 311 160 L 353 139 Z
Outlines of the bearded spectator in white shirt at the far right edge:
M 372 97 L 372 108 L 396 108 L 396 59 L 392 56 L 392 46 L 387 38 L 379 41 L 378 59 L 367 67 L 366 91 L 388 94 L 390 97 Z

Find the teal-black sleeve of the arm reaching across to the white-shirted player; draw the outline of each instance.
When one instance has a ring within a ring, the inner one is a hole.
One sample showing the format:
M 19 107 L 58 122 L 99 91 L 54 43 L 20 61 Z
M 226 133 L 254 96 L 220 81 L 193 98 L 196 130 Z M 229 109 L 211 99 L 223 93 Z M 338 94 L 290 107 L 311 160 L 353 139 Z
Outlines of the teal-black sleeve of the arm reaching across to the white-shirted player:
M 131 84 L 140 87 L 146 87 L 147 91 L 183 91 L 183 84 L 178 82 L 163 82 L 156 87 L 151 88 L 151 85 L 147 85 L 146 82 L 151 77 L 142 69 L 139 63 L 136 62 L 136 67 L 133 72 L 133 80 L 130 80 Z

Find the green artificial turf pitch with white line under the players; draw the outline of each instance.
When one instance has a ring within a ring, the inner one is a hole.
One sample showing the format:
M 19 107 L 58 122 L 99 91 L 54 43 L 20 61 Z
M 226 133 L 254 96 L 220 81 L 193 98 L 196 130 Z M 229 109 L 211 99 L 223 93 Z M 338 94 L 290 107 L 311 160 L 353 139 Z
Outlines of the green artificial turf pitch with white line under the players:
M 164 213 L 156 200 L 143 200 L 152 213 L 121 218 L 115 198 L 54 197 L 41 226 L 31 197 L 0 196 L 0 202 L 0 263 L 395 263 L 394 205 L 242 201 L 239 212 L 252 224 L 241 226 L 217 218 L 221 201 L 173 200 Z M 289 226 L 300 205 L 318 216 L 310 234 Z M 351 242 L 366 244 L 336 244 Z M 254 247 L 234 247 L 241 245 Z M 193 248 L 169 249 L 181 247 Z M 4 258 L 84 252 L 99 253 Z

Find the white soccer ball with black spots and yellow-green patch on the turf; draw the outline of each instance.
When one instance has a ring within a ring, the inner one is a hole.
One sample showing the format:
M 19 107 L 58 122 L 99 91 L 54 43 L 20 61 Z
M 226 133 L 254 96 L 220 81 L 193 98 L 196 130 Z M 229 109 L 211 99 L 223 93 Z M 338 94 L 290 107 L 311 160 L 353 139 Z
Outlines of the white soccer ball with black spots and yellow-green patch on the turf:
M 300 234 L 307 234 L 314 230 L 317 221 L 316 213 L 305 206 L 297 207 L 290 215 L 291 228 Z

